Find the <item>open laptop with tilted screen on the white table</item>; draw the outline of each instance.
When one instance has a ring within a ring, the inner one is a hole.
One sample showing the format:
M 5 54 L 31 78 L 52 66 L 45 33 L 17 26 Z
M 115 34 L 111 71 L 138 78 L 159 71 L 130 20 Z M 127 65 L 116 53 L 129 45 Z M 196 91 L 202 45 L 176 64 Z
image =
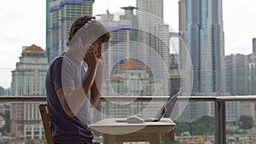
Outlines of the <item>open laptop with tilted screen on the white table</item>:
M 177 101 L 177 95 L 180 94 L 180 92 L 180 88 L 170 91 L 169 98 L 166 100 L 165 104 L 160 108 L 160 111 L 156 113 L 154 118 L 143 118 L 144 122 L 158 122 L 160 121 L 160 118 L 162 118 L 166 114 L 167 111 L 170 110 L 172 112 Z M 127 118 L 116 118 L 115 120 L 118 123 L 127 122 Z

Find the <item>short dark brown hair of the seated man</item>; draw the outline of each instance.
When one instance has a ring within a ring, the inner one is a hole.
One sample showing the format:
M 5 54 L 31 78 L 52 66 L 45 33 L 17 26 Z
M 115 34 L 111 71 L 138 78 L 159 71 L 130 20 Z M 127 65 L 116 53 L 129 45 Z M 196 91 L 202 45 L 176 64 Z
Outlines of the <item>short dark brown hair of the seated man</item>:
M 73 21 L 73 24 L 70 27 L 67 45 L 70 44 L 71 40 L 73 39 L 74 35 L 79 31 L 79 29 L 92 19 L 95 20 L 96 18 L 94 16 L 84 15 L 78 17 L 76 20 Z M 102 43 L 107 43 L 111 37 L 110 32 L 108 32 L 108 30 L 100 22 L 94 22 L 93 25 L 89 25 L 87 27 L 87 31 L 98 37 L 97 39 L 100 40 Z

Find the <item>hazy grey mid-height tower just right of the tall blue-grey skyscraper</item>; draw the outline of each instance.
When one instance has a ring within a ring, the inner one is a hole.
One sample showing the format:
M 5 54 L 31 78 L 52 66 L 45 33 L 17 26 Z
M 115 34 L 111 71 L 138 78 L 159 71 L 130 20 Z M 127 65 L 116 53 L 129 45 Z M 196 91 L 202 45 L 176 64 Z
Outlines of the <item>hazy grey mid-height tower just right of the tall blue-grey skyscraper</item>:
M 227 55 L 225 57 L 226 67 L 226 91 L 230 95 L 248 95 L 248 57 L 247 55 Z M 246 102 L 230 101 L 226 103 L 226 121 L 236 122 L 241 114 Z M 246 108 L 246 107 L 244 107 Z

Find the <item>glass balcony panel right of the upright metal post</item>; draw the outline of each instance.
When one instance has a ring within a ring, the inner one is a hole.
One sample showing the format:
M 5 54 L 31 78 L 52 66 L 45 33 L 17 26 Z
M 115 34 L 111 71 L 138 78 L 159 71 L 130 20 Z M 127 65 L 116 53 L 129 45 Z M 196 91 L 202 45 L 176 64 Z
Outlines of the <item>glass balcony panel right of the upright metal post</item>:
M 255 143 L 255 101 L 226 102 L 227 143 Z

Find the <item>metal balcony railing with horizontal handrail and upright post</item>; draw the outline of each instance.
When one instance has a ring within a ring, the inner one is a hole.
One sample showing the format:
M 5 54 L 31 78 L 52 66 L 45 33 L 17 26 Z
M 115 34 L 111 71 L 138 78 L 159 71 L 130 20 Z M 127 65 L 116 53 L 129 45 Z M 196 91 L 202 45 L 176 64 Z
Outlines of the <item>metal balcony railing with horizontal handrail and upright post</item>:
M 166 101 L 166 96 L 141 96 L 134 100 L 129 96 L 108 96 L 101 97 L 100 101 Z M 226 143 L 226 101 L 256 101 L 256 95 L 239 95 L 239 96 L 178 96 L 179 101 L 212 101 L 215 105 L 215 143 Z M 45 95 L 29 95 L 29 96 L 0 96 L 1 102 L 30 102 L 42 101 L 46 102 Z

